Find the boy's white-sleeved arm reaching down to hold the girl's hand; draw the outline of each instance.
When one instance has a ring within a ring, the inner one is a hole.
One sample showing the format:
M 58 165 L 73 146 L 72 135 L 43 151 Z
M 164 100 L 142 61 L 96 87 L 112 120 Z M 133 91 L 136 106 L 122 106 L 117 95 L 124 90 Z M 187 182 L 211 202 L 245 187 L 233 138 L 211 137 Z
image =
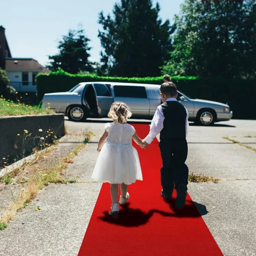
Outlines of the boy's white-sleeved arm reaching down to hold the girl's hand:
M 148 136 L 144 139 L 147 144 L 152 143 L 157 134 L 163 129 L 164 119 L 165 117 L 163 116 L 162 108 L 161 106 L 158 106 L 150 125 L 150 132 L 148 133 Z

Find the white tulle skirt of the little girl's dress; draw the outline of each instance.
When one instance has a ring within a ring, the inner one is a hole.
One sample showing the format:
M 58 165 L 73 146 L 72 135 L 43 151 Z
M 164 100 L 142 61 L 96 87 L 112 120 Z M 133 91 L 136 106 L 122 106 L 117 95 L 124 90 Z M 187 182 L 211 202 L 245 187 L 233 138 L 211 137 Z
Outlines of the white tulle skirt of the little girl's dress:
M 129 145 L 117 147 L 106 142 L 98 156 L 92 178 L 111 184 L 142 181 L 142 172 L 137 150 Z

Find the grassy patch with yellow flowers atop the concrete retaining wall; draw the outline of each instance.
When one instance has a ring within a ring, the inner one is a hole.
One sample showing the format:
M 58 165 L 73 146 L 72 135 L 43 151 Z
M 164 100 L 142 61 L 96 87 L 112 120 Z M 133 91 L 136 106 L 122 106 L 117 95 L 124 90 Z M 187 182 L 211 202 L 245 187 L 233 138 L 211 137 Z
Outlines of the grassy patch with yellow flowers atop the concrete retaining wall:
M 39 115 L 54 114 L 51 109 L 40 108 L 39 106 L 30 106 L 25 103 L 15 103 L 0 97 L 0 116 L 18 116 L 18 115 Z

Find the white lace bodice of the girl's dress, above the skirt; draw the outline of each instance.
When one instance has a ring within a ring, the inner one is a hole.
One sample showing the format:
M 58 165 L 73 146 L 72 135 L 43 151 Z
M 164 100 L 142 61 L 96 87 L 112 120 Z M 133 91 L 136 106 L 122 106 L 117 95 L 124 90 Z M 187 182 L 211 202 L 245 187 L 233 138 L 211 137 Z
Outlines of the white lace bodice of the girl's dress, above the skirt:
M 129 124 L 106 123 L 104 127 L 108 132 L 107 143 L 117 147 L 127 147 L 131 145 L 132 136 L 135 133 L 133 126 Z

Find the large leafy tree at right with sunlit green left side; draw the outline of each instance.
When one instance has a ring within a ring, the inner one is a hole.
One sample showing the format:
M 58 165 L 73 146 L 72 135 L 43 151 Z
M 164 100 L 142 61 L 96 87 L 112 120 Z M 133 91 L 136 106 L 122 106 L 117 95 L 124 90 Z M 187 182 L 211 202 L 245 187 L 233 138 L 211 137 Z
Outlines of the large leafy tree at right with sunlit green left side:
M 256 2 L 186 0 L 163 73 L 247 76 L 256 71 Z

